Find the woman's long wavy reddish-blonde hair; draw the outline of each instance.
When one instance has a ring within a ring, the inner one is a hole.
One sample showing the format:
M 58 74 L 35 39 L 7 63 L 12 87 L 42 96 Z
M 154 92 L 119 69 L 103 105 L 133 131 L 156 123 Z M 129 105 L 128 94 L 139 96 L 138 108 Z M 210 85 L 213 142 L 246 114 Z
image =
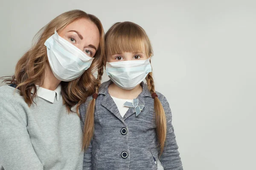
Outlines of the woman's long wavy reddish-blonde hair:
M 92 15 L 87 14 L 81 10 L 72 10 L 60 14 L 44 26 L 34 37 L 34 45 L 29 49 L 18 61 L 15 67 L 15 75 L 12 78 L 5 79 L 7 84 L 17 84 L 17 89 L 20 90 L 20 95 L 23 96 L 26 103 L 31 106 L 33 98 L 37 92 L 35 83 L 44 82 L 44 71 L 48 62 L 47 47 L 44 46 L 44 42 L 54 34 L 54 30 L 57 32 L 63 30 L 68 24 L 75 20 L 86 18 L 92 21 L 99 29 L 100 43 L 99 49 L 94 55 L 93 63 L 90 68 L 87 69 L 79 78 L 73 81 L 61 82 L 61 94 L 64 99 L 69 112 L 71 107 L 77 104 L 77 111 L 80 104 L 84 103 L 89 95 L 92 95 L 95 90 L 95 85 L 98 85 L 99 78 L 93 76 L 93 72 L 102 66 L 105 60 L 104 57 L 104 30 L 100 20 Z M 103 66 L 102 66 L 103 67 Z M 40 84 L 39 84 L 40 85 Z M 32 89 L 35 91 L 31 95 Z

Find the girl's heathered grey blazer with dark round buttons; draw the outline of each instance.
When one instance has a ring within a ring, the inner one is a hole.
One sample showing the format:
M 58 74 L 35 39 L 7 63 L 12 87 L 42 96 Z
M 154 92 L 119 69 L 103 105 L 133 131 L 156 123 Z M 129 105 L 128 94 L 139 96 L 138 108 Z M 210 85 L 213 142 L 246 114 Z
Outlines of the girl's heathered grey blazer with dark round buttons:
M 95 104 L 94 135 L 90 147 L 84 153 L 84 170 L 157 170 L 155 160 L 159 154 L 154 116 L 154 99 L 147 85 L 138 96 L 139 105 L 145 106 L 136 117 L 130 107 L 124 117 L 108 93 L 111 81 L 103 83 Z M 166 98 L 157 92 L 166 113 L 166 146 L 160 157 L 165 170 L 183 170 L 172 127 L 172 113 Z M 92 96 L 81 105 L 81 126 Z

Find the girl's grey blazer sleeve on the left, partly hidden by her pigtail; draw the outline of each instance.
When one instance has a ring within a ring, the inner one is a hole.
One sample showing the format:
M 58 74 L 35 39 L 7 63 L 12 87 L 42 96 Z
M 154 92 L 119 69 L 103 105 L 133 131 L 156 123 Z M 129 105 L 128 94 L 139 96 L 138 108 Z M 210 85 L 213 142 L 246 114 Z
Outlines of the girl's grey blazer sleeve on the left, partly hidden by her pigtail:
M 84 132 L 84 120 L 85 120 L 85 114 L 87 111 L 87 106 L 89 104 L 89 101 L 87 101 L 84 104 L 81 104 L 81 107 L 79 108 L 79 113 L 81 115 L 81 128 Z M 84 162 L 83 162 L 83 170 L 91 170 L 92 169 L 92 142 L 90 143 L 90 146 L 87 150 L 84 152 Z

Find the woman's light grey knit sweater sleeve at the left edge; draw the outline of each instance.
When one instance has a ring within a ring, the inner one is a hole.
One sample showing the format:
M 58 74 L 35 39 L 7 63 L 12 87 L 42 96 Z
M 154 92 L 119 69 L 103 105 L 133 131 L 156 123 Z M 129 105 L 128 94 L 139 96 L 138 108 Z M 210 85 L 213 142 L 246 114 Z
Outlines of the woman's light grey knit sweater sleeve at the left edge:
M 0 169 L 43 170 L 26 124 L 15 107 L 0 95 Z

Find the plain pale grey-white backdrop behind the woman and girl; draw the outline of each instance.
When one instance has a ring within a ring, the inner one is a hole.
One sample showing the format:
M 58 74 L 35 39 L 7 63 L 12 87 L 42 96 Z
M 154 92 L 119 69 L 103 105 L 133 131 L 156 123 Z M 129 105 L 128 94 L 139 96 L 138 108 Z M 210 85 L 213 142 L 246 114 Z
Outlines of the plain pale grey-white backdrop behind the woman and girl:
M 1 1 L 0 76 L 71 9 L 96 15 L 105 31 L 132 21 L 148 33 L 184 170 L 256 170 L 255 0 Z

